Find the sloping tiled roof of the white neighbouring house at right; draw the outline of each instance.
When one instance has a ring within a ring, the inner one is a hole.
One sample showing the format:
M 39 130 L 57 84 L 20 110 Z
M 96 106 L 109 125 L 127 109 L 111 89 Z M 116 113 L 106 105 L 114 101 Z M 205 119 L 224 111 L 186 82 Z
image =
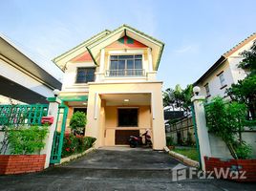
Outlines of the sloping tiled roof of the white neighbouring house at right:
M 214 72 L 219 66 L 221 66 L 224 61 L 230 56 L 232 53 L 237 52 L 241 48 L 243 48 L 247 43 L 251 42 L 252 40 L 256 39 L 256 32 L 249 35 L 245 40 L 241 41 L 239 44 L 235 45 L 232 49 L 225 52 L 221 55 L 221 57 L 194 83 L 194 85 L 198 85 L 204 78 L 206 78 L 209 74 Z

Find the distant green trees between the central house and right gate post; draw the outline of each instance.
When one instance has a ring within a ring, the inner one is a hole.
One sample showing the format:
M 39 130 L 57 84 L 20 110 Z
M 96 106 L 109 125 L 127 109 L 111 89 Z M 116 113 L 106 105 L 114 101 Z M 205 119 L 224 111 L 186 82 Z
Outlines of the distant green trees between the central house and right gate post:
M 193 86 L 187 85 L 185 89 L 181 89 L 178 84 L 175 89 L 168 88 L 163 92 L 163 106 L 170 106 L 174 109 L 181 109 L 190 112 L 191 97 L 193 96 Z

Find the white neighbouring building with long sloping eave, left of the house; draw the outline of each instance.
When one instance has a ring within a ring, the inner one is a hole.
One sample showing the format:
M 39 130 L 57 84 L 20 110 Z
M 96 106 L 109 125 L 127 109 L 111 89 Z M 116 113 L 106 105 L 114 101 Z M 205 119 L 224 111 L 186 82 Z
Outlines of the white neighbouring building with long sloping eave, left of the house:
M 0 104 L 47 103 L 56 88 L 59 80 L 0 34 Z

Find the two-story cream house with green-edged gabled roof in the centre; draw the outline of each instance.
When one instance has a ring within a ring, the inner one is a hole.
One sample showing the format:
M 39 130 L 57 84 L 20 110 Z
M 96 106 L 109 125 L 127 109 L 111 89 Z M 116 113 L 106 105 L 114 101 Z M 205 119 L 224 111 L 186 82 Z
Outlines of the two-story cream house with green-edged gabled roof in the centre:
M 85 136 L 96 147 L 127 144 L 151 131 L 153 149 L 165 146 L 161 85 L 156 79 L 164 44 L 123 25 L 104 31 L 53 59 L 64 72 L 60 98 L 87 113 Z

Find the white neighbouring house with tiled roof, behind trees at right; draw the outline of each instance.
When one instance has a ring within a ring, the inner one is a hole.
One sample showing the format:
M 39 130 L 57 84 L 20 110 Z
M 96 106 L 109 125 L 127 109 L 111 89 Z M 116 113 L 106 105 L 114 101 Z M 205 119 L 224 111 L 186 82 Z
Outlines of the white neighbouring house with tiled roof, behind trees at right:
M 242 52 L 249 50 L 256 40 L 256 32 L 248 36 L 244 41 L 224 53 L 214 65 L 204 73 L 195 83 L 195 86 L 201 87 L 201 94 L 207 98 L 214 96 L 225 97 L 225 90 L 231 87 L 231 84 L 244 79 L 246 73 L 238 68 L 242 61 Z

